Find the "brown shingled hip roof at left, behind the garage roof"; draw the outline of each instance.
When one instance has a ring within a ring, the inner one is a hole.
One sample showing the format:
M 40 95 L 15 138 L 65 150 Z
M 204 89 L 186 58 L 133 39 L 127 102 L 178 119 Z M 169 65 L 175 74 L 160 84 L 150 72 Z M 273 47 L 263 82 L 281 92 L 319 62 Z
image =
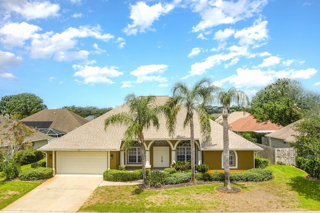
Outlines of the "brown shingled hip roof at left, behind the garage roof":
M 44 109 L 23 118 L 20 121 L 26 125 L 31 125 L 33 128 L 50 128 L 61 130 L 63 132 L 71 132 L 72 130 L 75 130 L 89 122 L 85 118 L 82 118 L 67 109 Z

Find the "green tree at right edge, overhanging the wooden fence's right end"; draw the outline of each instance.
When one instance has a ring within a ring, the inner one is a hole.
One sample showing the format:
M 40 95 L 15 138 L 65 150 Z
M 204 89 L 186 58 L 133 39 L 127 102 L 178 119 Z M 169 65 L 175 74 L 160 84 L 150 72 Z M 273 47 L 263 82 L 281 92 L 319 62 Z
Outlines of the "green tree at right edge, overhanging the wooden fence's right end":
M 316 106 L 304 115 L 301 122 L 295 123 L 293 129 L 296 141 L 292 147 L 298 157 L 320 158 L 320 106 Z

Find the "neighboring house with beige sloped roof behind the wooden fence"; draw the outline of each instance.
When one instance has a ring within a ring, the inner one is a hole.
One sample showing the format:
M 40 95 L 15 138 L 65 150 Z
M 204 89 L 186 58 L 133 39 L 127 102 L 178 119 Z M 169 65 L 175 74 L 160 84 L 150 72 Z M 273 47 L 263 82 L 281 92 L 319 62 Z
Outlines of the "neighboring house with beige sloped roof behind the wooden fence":
M 266 135 L 267 146 L 274 148 L 290 148 L 291 144 L 295 142 L 293 135 L 297 135 L 292 127 L 294 124 L 301 122 L 301 120 L 295 121 L 275 132 L 269 133 Z

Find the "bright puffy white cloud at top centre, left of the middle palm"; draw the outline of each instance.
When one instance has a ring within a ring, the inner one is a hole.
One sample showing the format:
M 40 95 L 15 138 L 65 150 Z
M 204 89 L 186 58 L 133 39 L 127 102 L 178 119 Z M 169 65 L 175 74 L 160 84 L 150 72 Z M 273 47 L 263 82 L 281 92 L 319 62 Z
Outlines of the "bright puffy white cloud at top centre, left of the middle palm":
M 173 4 L 161 3 L 149 6 L 143 1 L 138 1 L 135 5 L 130 5 L 130 18 L 132 24 L 127 24 L 123 29 L 126 35 L 135 35 L 137 32 L 153 30 L 151 25 L 154 20 L 158 20 L 161 15 L 165 15 L 174 8 Z

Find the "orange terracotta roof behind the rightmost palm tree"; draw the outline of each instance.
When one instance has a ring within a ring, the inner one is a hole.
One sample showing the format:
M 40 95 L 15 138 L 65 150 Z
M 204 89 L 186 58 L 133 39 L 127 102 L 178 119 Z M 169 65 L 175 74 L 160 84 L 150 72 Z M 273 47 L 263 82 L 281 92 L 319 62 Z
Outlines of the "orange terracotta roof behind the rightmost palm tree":
M 245 118 L 240 118 L 229 124 L 232 126 L 232 131 L 236 132 L 252 132 L 252 131 L 276 131 L 282 128 L 281 125 L 276 125 L 270 121 L 258 123 L 252 115 Z

